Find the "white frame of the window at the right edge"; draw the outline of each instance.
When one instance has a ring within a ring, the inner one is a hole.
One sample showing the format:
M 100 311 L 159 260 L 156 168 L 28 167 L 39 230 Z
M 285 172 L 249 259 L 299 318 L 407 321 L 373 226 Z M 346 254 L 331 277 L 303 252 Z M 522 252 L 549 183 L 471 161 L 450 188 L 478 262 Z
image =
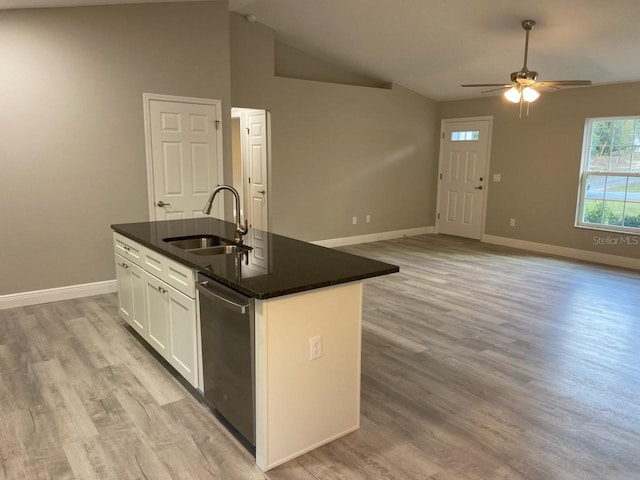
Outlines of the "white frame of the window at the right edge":
M 639 234 L 640 227 L 626 227 L 624 225 L 608 225 L 604 223 L 590 223 L 585 222 L 582 219 L 584 218 L 584 208 L 586 205 L 586 191 L 587 191 L 587 178 L 591 176 L 601 176 L 601 177 L 624 177 L 624 178 L 640 178 L 640 171 L 638 172 L 614 172 L 611 170 L 589 170 L 589 154 L 591 151 L 591 138 L 592 138 L 592 130 L 593 124 L 597 121 L 616 121 L 616 120 L 636 120 L 640 123 L 640 114 L 639 115 L 626 115 L 626 116 L 615 116 L 615 117 L 590 117 L 585 120 L 584 127 L 584 137 L 582 141 L 582 157 L 580 160 L 580 176 L 578 182 L 578 202 L 576 208 L 576 219 L 575 226 L 578 228 L 586 228 L 589 230 L 601 230 L 605 232 L 616 232 L 616 233 L 629 233 L 629 234 Z M 640 156 L 640 153 L 638 153 Z M 628 180 L 627 180 L 628 183 Z M 605 192 L 606 195 L 606 192 Z M 605 198 L 606 200 L 606 198 Z M 626 206 L 626 200 L 625 200 Z

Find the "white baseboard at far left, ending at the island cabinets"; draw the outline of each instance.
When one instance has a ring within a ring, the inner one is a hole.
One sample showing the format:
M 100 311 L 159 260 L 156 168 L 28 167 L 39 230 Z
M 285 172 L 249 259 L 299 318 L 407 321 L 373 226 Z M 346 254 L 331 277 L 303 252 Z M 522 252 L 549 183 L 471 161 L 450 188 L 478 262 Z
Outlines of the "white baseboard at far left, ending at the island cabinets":
M 0 295 L 0 310 L 37 305 L 39 303 L 57 302 L 59 300 L 69 300 L 71 298 L 90 297 L 92 295 L 102 295 L 103 293 L 113 293 L 115 291 L 117 291 L 116 281 L 107 280 L 105 282 L 70 285 L 68 287 L 49 288 L 47 290 L 36 290 L 33 292 L 11 293 L 9 295 Z

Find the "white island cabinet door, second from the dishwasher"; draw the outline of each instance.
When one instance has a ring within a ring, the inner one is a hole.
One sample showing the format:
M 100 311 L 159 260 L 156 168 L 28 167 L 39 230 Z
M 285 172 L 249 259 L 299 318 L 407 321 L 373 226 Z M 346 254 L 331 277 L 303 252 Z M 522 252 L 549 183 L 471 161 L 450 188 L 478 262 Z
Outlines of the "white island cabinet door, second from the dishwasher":
M 148 330 L 146 339 L 160 355 L 169 358 L 169 290 L 166 284 L 145 272 Z

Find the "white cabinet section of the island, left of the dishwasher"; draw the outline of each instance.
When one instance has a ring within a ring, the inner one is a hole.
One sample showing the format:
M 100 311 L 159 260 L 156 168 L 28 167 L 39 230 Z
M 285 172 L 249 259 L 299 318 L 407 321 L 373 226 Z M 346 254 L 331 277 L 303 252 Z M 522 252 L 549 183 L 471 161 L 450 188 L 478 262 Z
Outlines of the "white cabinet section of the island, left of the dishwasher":
M 198 387 L 195 272 L 117 233 L 114 250 L 120 316 Z

